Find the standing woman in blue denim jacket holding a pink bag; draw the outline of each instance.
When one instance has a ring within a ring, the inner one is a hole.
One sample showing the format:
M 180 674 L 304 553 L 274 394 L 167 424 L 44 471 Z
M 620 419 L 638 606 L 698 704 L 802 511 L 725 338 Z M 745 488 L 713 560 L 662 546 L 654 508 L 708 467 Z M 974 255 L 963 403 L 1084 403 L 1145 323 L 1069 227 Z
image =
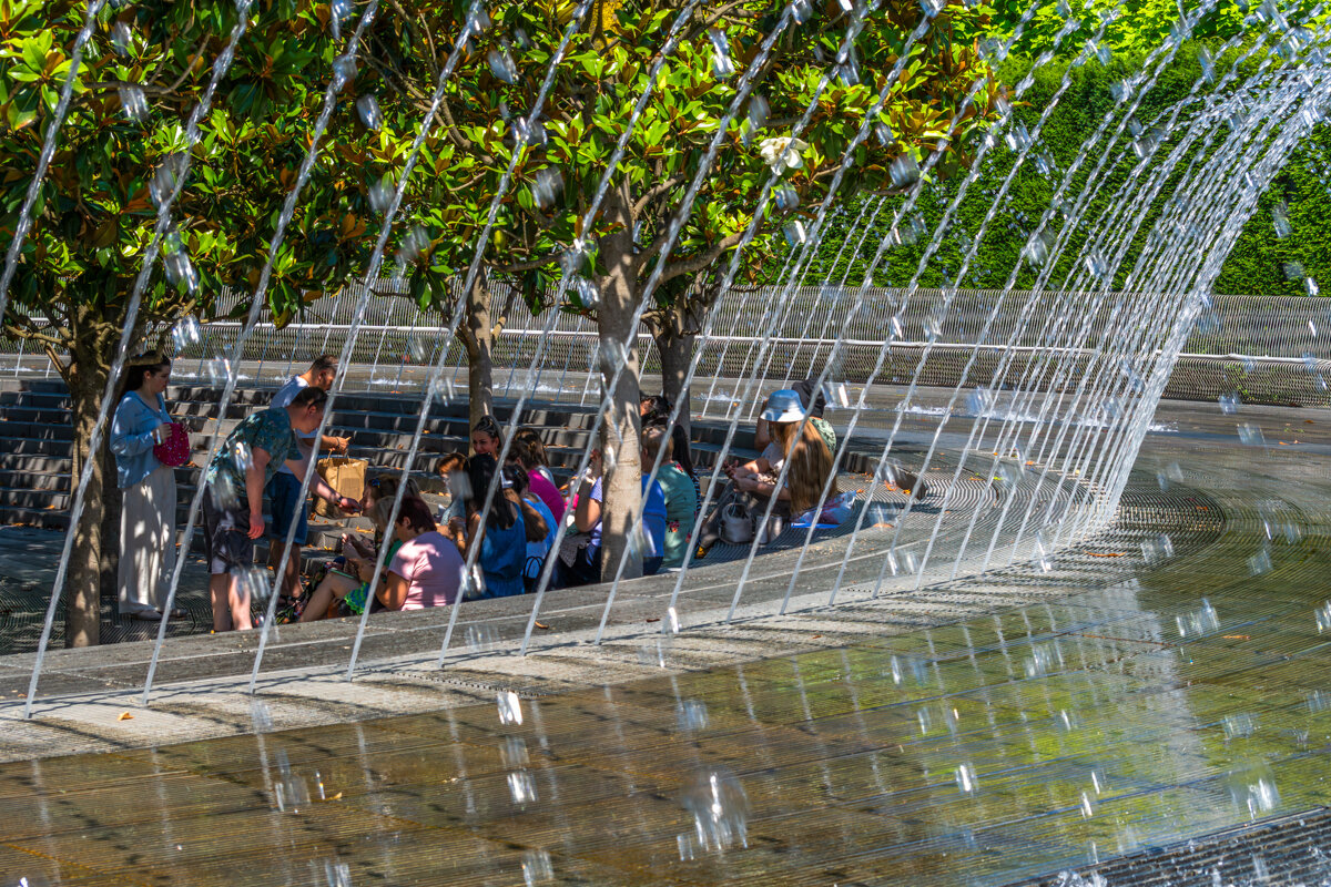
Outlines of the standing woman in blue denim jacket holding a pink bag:
M 170 360 L 158 354 L 134 358 L 125 370 L 125 396 L 110 426 L 116 480 L 124 495 L 118 610 L 122 617 L 152 622 L 162 617 L 176 569 L 176 469 L 153 453 L 170 435 L 172 418 L 162 396 L 169 383 Z

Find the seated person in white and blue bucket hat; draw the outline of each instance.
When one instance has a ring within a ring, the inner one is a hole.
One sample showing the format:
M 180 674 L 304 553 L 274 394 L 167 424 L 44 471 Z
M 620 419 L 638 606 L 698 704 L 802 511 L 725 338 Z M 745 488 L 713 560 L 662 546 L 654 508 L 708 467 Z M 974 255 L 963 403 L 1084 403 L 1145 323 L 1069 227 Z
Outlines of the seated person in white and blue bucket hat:
M 716 503 L 716 509 L 703 525 L 697 540 L 696 557 L 721 539 L 723 516 L 727 509 L 735 515 L 736 505 L 745 509 L 752 520 L 759 520 L 772 505 L 772 517 L 764 528 L 768 539 L 777 536 L 784 520 L 792 513 L 808 511 L 819 504 L 823 487 L 832 475 L 832 453 L 823 436 L 807 422 L 800 395 L 789 388 L 776 391 L 767 400 L 763 419 L 771 428 L 772 442 L 757 459 L 725 465 L 731 483 Z M 781 467 L 789 460 L 785 480 L 777 485 Z M 836 479 L 828 496 L 837 495 Z M 775 501 L 772 501 L 775 500 Z

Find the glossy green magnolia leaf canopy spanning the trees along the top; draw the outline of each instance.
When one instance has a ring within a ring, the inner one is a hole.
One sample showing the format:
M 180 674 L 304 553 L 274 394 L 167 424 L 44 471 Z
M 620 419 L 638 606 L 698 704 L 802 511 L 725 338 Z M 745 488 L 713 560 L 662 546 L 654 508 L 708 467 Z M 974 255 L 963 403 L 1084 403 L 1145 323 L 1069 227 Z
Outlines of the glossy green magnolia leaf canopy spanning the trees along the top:
M 196 303 L 206 315 L 225 287 L 254 287 L 282 201 L 309 150 L 334 59 L 366 8 L 363 1 L 350 4 L 350 15 L 334 28 L 326 3 L 269 0 L 249 7 L 248 33 L 202 122 L 173 210 L 200 285 L 180 293 L 154 270 L 148 317 L 168 318 Z M 475 254 L 490 201 L 515 150 L 515 125 L 532 106 L 574 8 L 563 1 L 491 4 L 490 25 L 461 53 L 439 113 L 425 129 L 385 255 L 385 273 L 403 267 L 423 307 L 447 302 L 450 279 Z M 647 86 L 676 11 L 676 4 L 598 3 L 558 66 L 540 117 L 543 136 L 518 157 L 512 188 L 484 245 L 486 262 L 523 275 L 534 299 L 558 273 L 558 255 L 579 237 L 592 259 L 583 270 L 595 271 L 595 241 L 607 227 L 598 223 L 580 231 L 579 219 Z M 615 176 L 628 184 L 644 273 L 740 74 L 777 27 L 781 11 L 777 4 L 740 3 L 684 25 L 680 47 L 662 69 Z M 0 120 L 7 122 L 0 132 L 7 169 L 0 230 L 13 230 L 85 12 L 84 3 L 0 4 Z M 236 15 L 232 3 L 202 1 L 106 4 L 101 11 L 43 182 L 12 287 L 11 320 L 51 302 L 91 303 L 106 317 L 122 310 L 156 217 L 149 182 L 185 148 L 185 121 Z M 466 15 L 462 3 L 379 5 L 274 257 L 268 307 L 278 322 L 365 274 L 383 221 L 382 198 L 402 182 Z M 920 15 L 913 3 L 880 7 L 855 43 L 857 77 L 835 78 L 823 92 L 803 136 L 808 148 L 801 162 L 784 172 L 805 207 L 831 180 Z M 936 140 L 961 96 L 985 74 L 973 48 L 953 43 L 950 35 L 954 28 L 980 27 L 981 20 L 960 0 L 933 20 L 881 116 L 892 137 L 861 146 L 852 186 L 884 186 L 893 157 Z M 707 258 L 733 245 L 768 174 L 765 140 L 789 133 L 829 70 L 848 24 L 832 3 L 781 35 L 757 76 L 757 94 L 769 112 L 755 110 L 751 117 L 751 104 L 739 109 L 681 233 L 676 261 Z M 725 35 L 735 73 L 717 73 L 709 31 Z M 146 104 L 138 118 L 125 108 L 126 101 L 133 104 L 133 89 Z M 996 89 L 982 89 L 965 110 L 956 146 L 984 125 Z M 370 97 L 378 114 L 365 113 Z M 964 150 L 956 160 L 965 161 Z M 554 177 L 543 170 L 558 170 L 562 186 L 538 198 L 538 176 Z M 584 306 L 575 299 L 572 307 Z

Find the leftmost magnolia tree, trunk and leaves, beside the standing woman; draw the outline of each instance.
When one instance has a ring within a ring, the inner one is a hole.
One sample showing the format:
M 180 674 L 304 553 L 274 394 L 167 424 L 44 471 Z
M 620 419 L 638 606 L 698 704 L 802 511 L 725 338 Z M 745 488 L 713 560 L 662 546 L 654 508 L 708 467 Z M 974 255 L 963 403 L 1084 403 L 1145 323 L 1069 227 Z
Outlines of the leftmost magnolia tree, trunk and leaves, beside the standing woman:
M 104 508 L 106 460 L 104 453 L 89 452 L 88 440 L 134 279 L 170 185 L 178 180 L 181 191 L 170 209 L 162 255 L 150 267 L 142 293 L 130 336 L 136 350 L 153 324 L 189 313 L 210 317 L 224 290 L 256 293 L 270 253 L 264 314 L 280 324 L 306 302 L 363 278 L 387 194 L 382 181 L 361 170 L 401 168 L 415 134 L 406 124 L 385 125 L 385 110 L 355 89 L 353 64 L 343 56 L 363 4 L 278 0 L 240 5 L 246 8 L 248 27 L 236 43 L 234 63 L 217 84 L 210 112 L 198 122 L 197 140 L 186 136 L 186 121 L 220 70 L 218 56 L 238 24 L 238 4 L 145 0 L 102 5 L 75 74 L 68 117 L 55 134 L 55 156 L 40 182 L 32 230 L 9 289 L 5 335 L 45 351 L 69 386 L 73 476 L 79 477 L 87 460 L 95 461 L 69 572 L 65 636 L 73 645 L 97 641 L 98 573 L 108 567 L 102 543 L 114 540 L 118 524 L 118 515 Z M 5 245 L 87 12 L 87 3 L 0 4 L 0 117 L 7 124 L 0 129 L 0 157 L 8 170 L 0 185 L 0 230 Z M 381 64 L 369 59 L 371 53 L 391 60 L 425 49 L 413 43 L 415 36 L 401 19 L 394 25 L 395 13 L 381 15 L 366 31 L 362 70 Z M 294 219 L 278 242 L 278 215 L 313 148 L 314 122 L 335 69 L 338 82 L 346 82 L 334 97 Z M 393 98 L 387 110 L 398 120 L 421 121 L 415 97 Z M 421 185 L 406 195 L 407 209 L 399 215 L 403 231 L 449 223 L 435 209 L 443 201 L 435 201 L 431 189 L 442 170 L 449 173 L 445 181 L 455 181 L 474 162 L 453 154 L 442 136 L 425 142 L 413 178 Z M 178 176 L 186 156 L 189 170 Z M 390 249 L 391 262 L 407 245 L 394 242 Z M 434 301 L 431 294 L 421 303 Z M 241 305 L 240 313 L 248 307 Z M 113 541 L 105 548 L 113 549 Z

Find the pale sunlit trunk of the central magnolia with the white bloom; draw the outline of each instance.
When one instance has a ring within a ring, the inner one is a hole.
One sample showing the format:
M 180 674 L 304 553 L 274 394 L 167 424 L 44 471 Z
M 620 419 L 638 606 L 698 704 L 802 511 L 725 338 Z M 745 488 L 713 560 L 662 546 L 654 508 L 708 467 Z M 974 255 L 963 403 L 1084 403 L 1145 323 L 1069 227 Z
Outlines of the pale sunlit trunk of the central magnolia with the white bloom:
M 638 281 L 634 267 L 634 225 L 630 215 L 628 185 L 620 184 L 606 201 L 606 221 L 615 230 L 598 243 L 606 275 L 598 281 L 600 305 L 596 323 L 600 338 L 602 394 L 610 391 L 611 379 L 624 367 L 610 396 L 610 410 L 602 427 L 602 453 L 606 476 L 602 481 L 602 578 L 612 581 L 626 547 L 624 578 L 643 574 L 640 545 L 630 545 L 635 520 L 642 507 L 642 456 L 638 444 L 638 348 L 634 311 L 638 307 Z M 624 343 L 628 343 L 626 347 Z M 614 457 L 608 457 L 610 455 Z M 646 529 L 643 536 L 646 537 Z M 642 539 L 640 537 L 640 539 Z

